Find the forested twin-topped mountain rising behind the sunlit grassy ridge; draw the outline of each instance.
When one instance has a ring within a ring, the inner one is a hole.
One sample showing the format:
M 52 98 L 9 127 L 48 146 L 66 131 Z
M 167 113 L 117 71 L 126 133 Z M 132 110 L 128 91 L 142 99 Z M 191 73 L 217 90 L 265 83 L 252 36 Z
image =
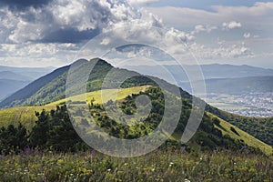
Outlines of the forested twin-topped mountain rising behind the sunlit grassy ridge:
M 106 61 L 101 59 L 93 59 L 92 61 L 97 61 L 96 66 L 94 67 L 93 71 L 91 72 L 88 83 L 87 83 L 87 92 L 100 90 L 102 87 L 102 83 L 104 77 L 109 72 L 109 70 L 113 71 L 113 78 L 118 80 L 121 76 L 130 76 L 134 75 L 134 77 L 126 80 L 126 82 L 122 85 L 122 87 L 131 87 L 131 86 L 145 86 L 145 85 L 155 85 L 148 76 L 141 76 L 136 72 L 128 71 L 126 69 L 119 69 L 116 67 L 111 66 L 110 64 L 106 63 Z M 78 60 L 74 64 L 78 70 L 86 71 L 86 67 L 91 64 L 91 62 L 87 62 L 86 60 Z M 37 106 L 37 105 L 45 105 L 48 103 L 52 103 L 54 101 L 60 100 L 65 98 L 66 96 L 66 77 L 67 72 L 70 66 L 64 66 L 61 68 L 56 69 L 54 72 L 43 76 L 28 86 L 25 86 L 23 89 L 17 91 L 12 96 L 8 96 L 0 103 L 0 108 L 6 108 L 11 106 Z M 152 77 L 152 76 L 151 76 Z M 164 80 L 160 80 L 156 77 L 153 77 L 162 85 L 169 87 L 173 87 L 172 85 L 168 84 Z M 109 83 L 106 88 L 113 88 L 116 82 Z M 122 84 L 122 83 L 120 83 Z M 185 97 L 190 97 L 186 92 L 182 93 Z

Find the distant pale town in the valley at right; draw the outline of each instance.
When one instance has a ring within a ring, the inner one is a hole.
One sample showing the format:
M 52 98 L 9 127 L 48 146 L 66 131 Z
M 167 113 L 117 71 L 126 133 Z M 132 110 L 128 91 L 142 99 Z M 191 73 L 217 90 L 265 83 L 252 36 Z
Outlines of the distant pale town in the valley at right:
M 273 116 L 273 92 L 242 95 L 207 94 L 207 103 L 241 116 Z

